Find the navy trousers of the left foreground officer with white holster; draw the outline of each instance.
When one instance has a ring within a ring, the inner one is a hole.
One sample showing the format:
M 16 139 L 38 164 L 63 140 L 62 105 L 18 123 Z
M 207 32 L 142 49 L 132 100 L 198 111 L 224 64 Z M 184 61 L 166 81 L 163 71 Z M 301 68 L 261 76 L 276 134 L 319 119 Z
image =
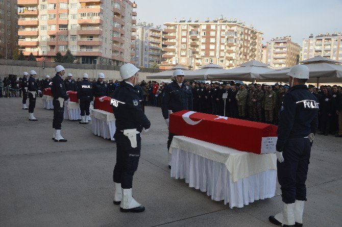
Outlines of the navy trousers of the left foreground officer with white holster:
M 138 168 L 141 137 L 137 137 L 137 147 L 133 148 L 127 136 L 121 131 L 116 131 L 114 139 L 116 141 L 116 163 L 113 170 L 113 181 L 121 183 L 121 188 L 132 188 L 133 175 Z

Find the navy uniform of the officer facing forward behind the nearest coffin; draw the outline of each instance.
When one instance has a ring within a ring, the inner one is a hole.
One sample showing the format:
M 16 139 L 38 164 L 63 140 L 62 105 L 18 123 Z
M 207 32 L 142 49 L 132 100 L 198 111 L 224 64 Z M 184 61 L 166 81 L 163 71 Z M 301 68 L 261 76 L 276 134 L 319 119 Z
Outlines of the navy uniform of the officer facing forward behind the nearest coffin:
M 193 110 L 191 87 L 182 83 L 180 87 L 176 81 L 173 81 L 164 88 L 161 111 L 164 119 L 168 119 L 168 110 L 173 113 L 181 110 Z M 170 148 L 175 134 L 168 133 L 167 150 Z

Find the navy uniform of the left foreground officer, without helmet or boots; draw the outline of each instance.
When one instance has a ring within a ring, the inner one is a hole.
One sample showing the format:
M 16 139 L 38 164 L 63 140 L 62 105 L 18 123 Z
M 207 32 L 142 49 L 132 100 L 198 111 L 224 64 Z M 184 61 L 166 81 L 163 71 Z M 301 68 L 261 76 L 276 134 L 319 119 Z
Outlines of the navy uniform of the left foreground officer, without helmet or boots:
M 141 110 L 139 99 L 137 90 L 122 81 L 120 87 L 113 92 L 111 100 L 116 119 L 114 139 L 117 147 L 113 181 L 121 183 L 121 188 L 125 189 L 132 188 L 133 175 L 140 158 L 141 137 L 140 133 L 136 134 L 137 146 L 133 148 L 123 131 L 136 129 L 141 132 L 142 128 L 149 129 L 151 126 L 151 122 Z

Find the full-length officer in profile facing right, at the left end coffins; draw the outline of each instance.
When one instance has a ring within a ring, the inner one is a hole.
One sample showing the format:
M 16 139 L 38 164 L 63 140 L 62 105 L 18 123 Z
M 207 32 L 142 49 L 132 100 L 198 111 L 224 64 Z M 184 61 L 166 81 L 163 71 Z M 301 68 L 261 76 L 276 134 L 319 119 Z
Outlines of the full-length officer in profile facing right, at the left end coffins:
M 66 93 L 65 85 L 63 83 L 63 75 L 65 68 L 61 65 L 57 65 L 55 68 L 56 75 L 52 79 L 51 92 L 54 96 L 52 101 L 54 105 L 54 120 L 52 122 L 53 137 L 55 142 L 66 142 L 67 140 L 61 136 L 62 121 L 64 115 L 64 101 L 69 100 L 69 96 Z

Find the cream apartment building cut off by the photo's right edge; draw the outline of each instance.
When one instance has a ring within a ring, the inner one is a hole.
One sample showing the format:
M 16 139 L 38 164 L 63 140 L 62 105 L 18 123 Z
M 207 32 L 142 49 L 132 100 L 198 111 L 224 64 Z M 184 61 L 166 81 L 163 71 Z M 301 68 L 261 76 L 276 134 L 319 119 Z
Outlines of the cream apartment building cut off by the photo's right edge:
M 341 33 L 320 33 L 313 37 L 303 39 L 302 59 L 306 60 L 315 56 L 323 56 L 336 61 L 342 61 L 342 36 Z

